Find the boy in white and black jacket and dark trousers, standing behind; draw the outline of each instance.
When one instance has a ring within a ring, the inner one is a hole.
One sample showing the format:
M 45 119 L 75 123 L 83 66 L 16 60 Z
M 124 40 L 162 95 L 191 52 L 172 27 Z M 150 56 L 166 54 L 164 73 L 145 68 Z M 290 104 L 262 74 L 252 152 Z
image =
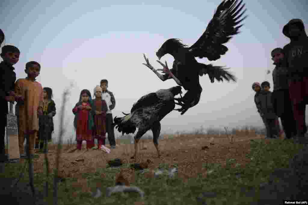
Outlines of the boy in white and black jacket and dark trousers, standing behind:
M 108 133 L 108 141 L 110 144 L 110 148 L 114 149 L 115 148 L 115 133 L 114 133 L 114 127 L 112 126 L 113 124 L 113 118 L 112 118 L 112 113 L 111 110 L 115 108 L 115 97 L 113 93 L 111 93 L 108 88 L 108 81 L 106 79 L 103 79 L 100 81 L 100 87 L 103 89 L 103 94 L 102 94 L 102 99 L 106 101 L 107 103 L 107 114 L 106 114 L 106 128 L 107 128 L 107 133 Z

